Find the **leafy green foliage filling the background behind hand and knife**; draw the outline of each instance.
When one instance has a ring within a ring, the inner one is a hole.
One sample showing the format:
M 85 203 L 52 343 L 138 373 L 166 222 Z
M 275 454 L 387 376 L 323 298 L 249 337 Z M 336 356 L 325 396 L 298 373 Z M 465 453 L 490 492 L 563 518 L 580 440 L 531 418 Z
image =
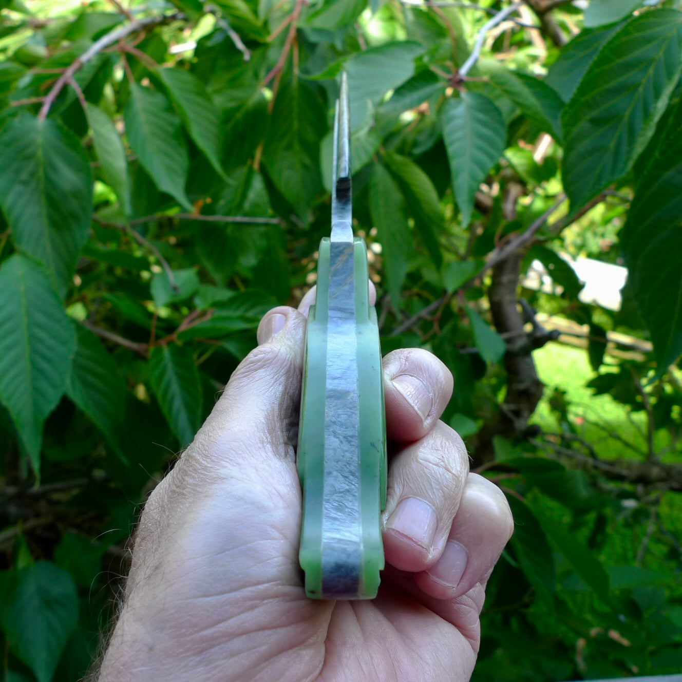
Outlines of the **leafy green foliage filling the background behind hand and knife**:
M 451 369 L 516 517 L 475 679 L 682 668 L 677 3 L 0 8 L 5 679 L 83 674 L 138 503 L 314 282 L 341 70 L 383 350 Z M 627 265 L 618 311 L 584 256 Z

